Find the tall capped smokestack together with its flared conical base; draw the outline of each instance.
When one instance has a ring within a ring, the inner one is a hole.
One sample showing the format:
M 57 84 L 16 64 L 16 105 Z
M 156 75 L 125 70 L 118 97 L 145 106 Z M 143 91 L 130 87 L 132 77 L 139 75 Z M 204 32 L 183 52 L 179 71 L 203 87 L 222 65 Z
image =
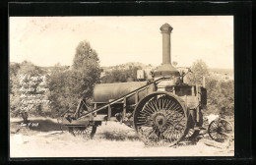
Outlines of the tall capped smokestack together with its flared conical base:
M 168 24 L 160 27 L 162 34 L 162 63 L 157 69 L 155 78 L 159 77 L 179 77 L 179 72 L 171 65 L 170 60 L 170 32 L 173 28 Z

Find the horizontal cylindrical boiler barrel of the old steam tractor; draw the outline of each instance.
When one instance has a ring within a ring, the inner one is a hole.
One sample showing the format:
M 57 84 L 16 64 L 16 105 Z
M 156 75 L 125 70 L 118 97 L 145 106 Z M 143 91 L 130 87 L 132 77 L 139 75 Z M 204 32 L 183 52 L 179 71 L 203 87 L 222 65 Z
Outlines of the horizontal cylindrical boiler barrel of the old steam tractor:
M 119 98 L 141 86 L 147 82 L 129 82 L 129 83 L 99 83 L 94 89 L 94 102 L 107 103 L 113 99 Z M 143 98 L 149 89 L 142 90 L 138 93 L 139 100 Z M 127 98 L 127 104 L 135 104 L 135 95 Z

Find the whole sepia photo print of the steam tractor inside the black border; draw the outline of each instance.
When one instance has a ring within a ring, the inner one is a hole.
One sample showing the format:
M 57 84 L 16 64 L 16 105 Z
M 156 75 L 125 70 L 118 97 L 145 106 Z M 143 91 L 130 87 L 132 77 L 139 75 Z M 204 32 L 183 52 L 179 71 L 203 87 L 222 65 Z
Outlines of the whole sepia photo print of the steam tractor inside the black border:
M 233 38 L 233 16 L 10 17 L 10 157 L 234 156 Z

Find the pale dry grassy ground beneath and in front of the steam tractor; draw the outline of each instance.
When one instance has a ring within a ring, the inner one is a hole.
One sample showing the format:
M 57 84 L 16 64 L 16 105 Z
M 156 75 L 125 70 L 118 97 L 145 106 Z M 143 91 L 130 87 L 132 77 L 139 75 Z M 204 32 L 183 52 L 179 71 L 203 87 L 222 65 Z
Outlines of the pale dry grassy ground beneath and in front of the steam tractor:
M 57 120 L 33 118 L 37 127 L 21 127 L 21 119 L 10 120 L 11 157 L 148 157 L 148 156 L 232 156 L 233 144 L 221 148 L 196 144 L 175 147 L 147 146 L 132 128 L 115 122 L 102 123 L 93 139 L 75 138 Z M 228 146 L 228 147 L 227 147 Z

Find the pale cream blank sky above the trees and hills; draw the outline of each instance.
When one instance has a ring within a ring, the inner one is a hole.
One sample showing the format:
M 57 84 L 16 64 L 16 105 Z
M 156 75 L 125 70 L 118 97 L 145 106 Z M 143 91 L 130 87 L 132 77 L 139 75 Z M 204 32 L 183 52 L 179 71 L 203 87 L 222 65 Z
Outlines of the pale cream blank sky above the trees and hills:
M 159 66 L 160 26 L 169 24 L 171 61 L 190 67 L 202 59 L 209 68 L 233 69 L 232 16 L 10 17 L 10 62 L 37 66 L 72 65 L 76 47 L 87 40 L 100 66 L 141 62 Z

